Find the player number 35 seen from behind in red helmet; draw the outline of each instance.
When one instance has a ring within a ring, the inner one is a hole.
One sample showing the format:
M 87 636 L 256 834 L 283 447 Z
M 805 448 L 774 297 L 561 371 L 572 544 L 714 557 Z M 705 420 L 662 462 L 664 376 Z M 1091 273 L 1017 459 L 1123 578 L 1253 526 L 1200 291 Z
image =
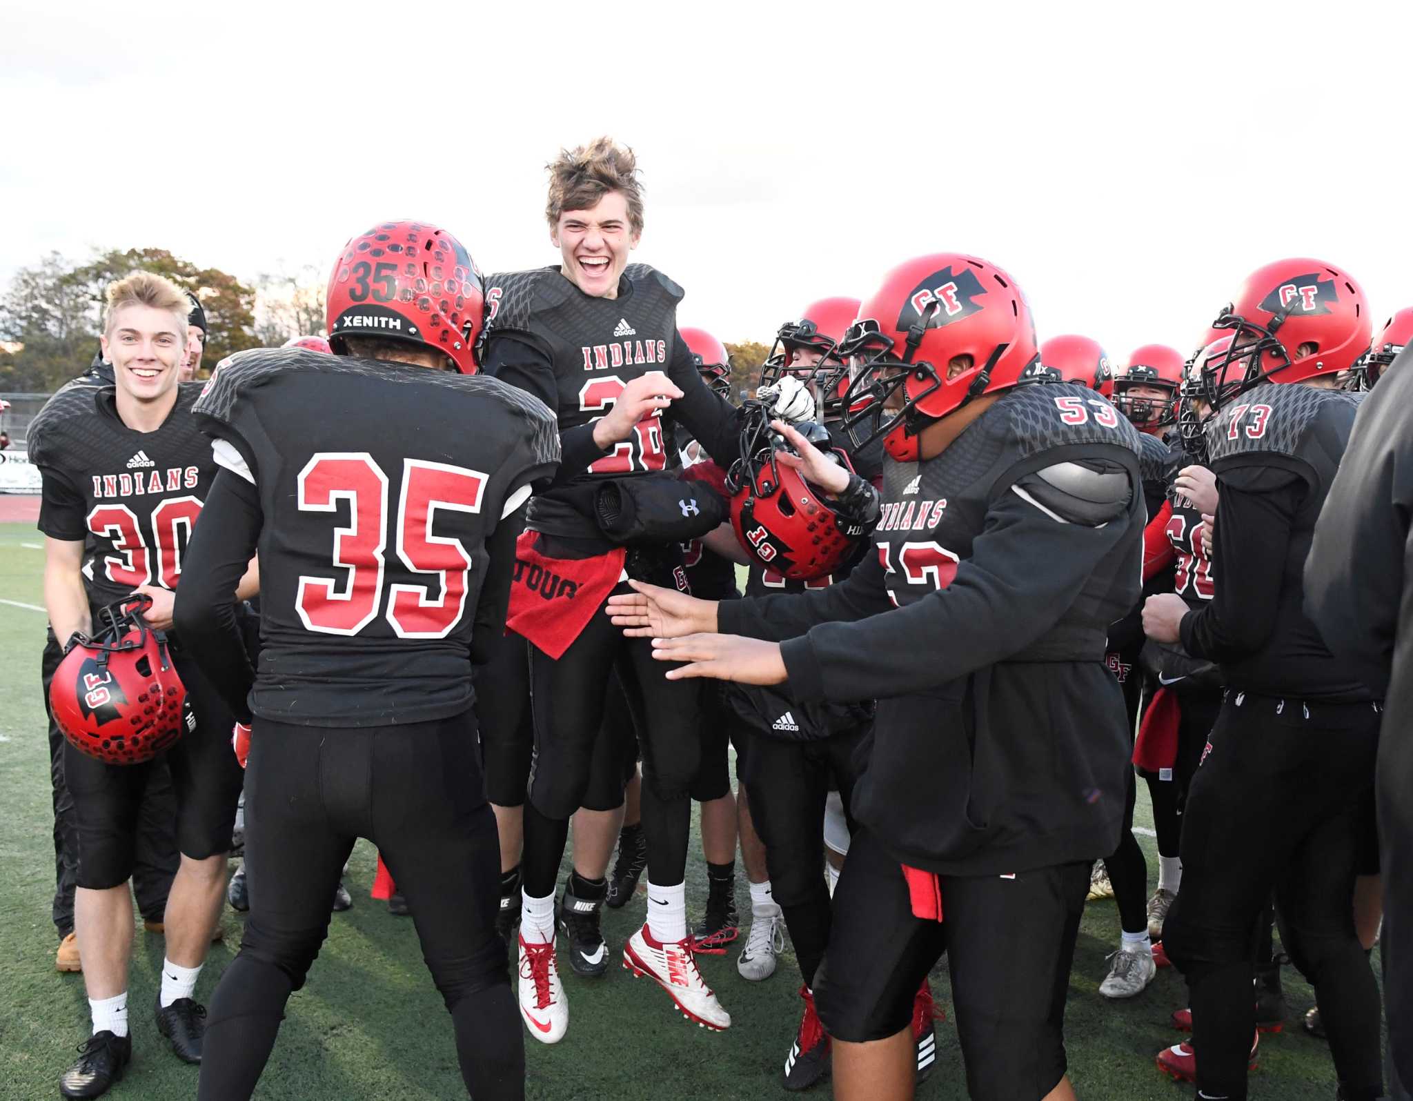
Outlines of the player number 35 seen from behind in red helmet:
M 250 917 L 212 1001 L 198 1097 L 256 1088 L 366 837 L 411 906 L 466 1091 L 520 1098 L 471 661 L 504 622 L 516 533 L 500 522 L 552 476 L 554 417 L 475 375 L 480 276 L 447 230 L 382 222 L 352 237 L 326 301 L 336 355 L 243 352 L 195 408 L 222 464 L 219 523 L 192 543 L 177 620 L 252 724 Z M 256 547 L 252 671 L 227 594 Z

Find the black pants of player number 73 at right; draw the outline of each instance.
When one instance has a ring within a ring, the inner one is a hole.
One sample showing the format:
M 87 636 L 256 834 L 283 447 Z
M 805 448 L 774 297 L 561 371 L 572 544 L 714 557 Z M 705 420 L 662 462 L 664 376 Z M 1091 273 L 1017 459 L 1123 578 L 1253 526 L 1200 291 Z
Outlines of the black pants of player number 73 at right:
M 1372 704 L 1231 691 L 1222 705 L 1188 794 L 1183 889 L 1163 931 L 1191 991 L 1197 1084 L 1212 1095 L 1246 1097 L 1252 929 L 1272 890 L 1345 1094 L 1379 1093 L 1379 995 L 1349 902 L 1378 736 Z

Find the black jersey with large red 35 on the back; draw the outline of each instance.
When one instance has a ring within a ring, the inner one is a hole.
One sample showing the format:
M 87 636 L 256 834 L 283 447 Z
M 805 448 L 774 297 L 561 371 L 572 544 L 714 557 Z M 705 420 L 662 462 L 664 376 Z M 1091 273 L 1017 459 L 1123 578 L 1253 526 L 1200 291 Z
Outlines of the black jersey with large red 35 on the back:
M 380 726 L 472 704 L 486 538 L 560 458 L 554 414 L 485 376 L 246 352 L 195 408 L 263 510 L 250 708 Z

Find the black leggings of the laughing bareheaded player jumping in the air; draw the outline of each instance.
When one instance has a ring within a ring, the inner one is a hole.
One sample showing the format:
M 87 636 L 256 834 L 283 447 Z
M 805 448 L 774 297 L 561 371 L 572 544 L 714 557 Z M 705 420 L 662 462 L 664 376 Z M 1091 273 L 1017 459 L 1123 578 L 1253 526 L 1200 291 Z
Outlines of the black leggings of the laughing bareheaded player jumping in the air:
M 619 585 L 617 592 L 632 592 Z M 643 750 L 643 837 L 653 883 L 671 886 L 687 875 L 691 784 L 701 762 L 701 684 L 670 681 L 671 666 L 653 660 L 651 639 L 626 639 L 598 613 L 558 660 L 530 649 L 534 690 L 534 767 L 521 865 L 526 893 L 554 892 L 569 816 L 584 806 L 599 738 L 610 673 L 623 685 Z M 550 837 L 545 821 L 564 823 Z

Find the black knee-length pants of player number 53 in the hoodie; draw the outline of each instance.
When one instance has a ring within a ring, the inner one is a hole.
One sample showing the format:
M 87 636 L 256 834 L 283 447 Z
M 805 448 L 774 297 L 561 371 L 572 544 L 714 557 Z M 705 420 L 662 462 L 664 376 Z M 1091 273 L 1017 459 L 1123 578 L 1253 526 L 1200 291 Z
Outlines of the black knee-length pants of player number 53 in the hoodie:
M 1065 1073 L 1064 1001 L 1088 889 L 1088 861 L 944 876 L 944 920 L 924 920 L 913 916 L 899 862 L 861 830 L 834 889 L 834 930 L 814 988 L 820 1020 L 851 1043 L 901 1032 L 945 950 L 966 1095 L 1039 1101 Z

